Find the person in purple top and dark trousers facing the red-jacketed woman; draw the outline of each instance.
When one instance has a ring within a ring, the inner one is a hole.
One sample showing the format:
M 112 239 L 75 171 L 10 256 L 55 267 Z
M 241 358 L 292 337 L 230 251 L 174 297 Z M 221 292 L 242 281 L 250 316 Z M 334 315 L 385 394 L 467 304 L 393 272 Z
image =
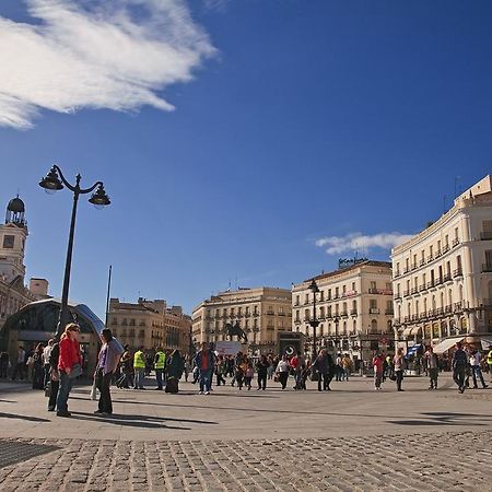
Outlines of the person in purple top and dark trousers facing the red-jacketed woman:
M 113 414 L 113 401 L 110 395 L 110 385 L 113 374 L 119 364 L 119 359 L 124 352 L 122 347 L 113 337 L 109 328 L 104 328 L 101 332 L 101 341 L 103 347 L 101 348 L 99 355 L 97 358 L 97 366 L 94 373 L 96 380 L 96 387 L 99 390 L 99 401 L 97 410 L 94 412 L 98 415 L 112 415 Z

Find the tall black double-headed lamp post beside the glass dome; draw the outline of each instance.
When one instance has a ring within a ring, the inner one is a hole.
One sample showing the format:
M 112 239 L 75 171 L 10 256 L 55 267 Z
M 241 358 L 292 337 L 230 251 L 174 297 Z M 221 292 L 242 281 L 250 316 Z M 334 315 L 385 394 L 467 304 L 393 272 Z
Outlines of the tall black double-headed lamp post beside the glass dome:
M 75 185 L 71 185 L 63 176 L 61 169 L 54 165 L 49 173 L 39 181 L 39 186 L 48 194 L 58 191 L 67 187 L 73 194 L 72 219 L 70 222 L 70 233 L 67 247 L 67 260 L 65 265 L 63 290 L 61 294 L 60 317 L 58 319 L 57 335 L 59 338 L 65 330 L 66 325 L 70 321 L 70 313 L 68 308 L 70 270 L 72 267 L 73 235 L 75 231 L 77 203 L 81 195 L 92 194 L 89 202 L 96 208 L 103 208 L 110 203 L 109 197 L 106 195 L 103 181 L 97 181 L 90 188 L 81 188 L 81 175 L 75 176 Z M 97 189 L 96 189 L 97 188 Z M 95 191 L 94 191 L 95 190 Z

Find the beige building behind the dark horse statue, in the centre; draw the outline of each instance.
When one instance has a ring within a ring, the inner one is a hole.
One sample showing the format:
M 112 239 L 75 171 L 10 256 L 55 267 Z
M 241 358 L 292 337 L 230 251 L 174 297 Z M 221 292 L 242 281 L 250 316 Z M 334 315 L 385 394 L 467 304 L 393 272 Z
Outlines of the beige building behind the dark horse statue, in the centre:
M 258 288 L 221 292 L 194 309 L 194 341 L 225 340 L 226 324 L 239 324 L 255 354 L 276 350 L 279 333 L 290 331 L 291 292 L 285 289 Z

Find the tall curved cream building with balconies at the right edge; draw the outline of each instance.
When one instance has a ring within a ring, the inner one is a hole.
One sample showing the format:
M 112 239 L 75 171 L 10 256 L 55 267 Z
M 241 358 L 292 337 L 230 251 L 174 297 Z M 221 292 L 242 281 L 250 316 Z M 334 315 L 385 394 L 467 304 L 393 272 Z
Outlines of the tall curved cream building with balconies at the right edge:
M 400 344 L 492 333 L 491 176 L 460 195 L 432 225 L 394 248 L 391 261 L 394 325 Z

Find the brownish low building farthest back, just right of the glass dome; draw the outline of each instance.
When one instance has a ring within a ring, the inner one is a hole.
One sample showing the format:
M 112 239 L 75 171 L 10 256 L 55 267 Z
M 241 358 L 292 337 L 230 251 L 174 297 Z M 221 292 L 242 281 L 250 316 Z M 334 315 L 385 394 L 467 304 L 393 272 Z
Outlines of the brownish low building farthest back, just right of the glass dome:
M 139 297 L 137 303 L 126 303 L 112 298 L 107 317 L 115 336 L 132 349 L 162 347 L 188 353 L 191 320 L 179 306 L 167 307 L 163 300 Z

